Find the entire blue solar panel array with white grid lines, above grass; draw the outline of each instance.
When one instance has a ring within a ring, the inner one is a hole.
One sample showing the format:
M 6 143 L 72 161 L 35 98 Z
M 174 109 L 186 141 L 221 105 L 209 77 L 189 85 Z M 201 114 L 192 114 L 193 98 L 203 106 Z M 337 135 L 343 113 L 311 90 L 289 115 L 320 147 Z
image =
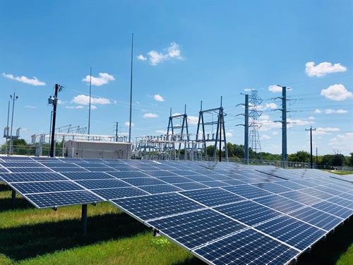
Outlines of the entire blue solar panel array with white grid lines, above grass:
M 37 208 L 110 201 L 209 264 L 287 264 L 353 213 L 353 184 L 234 163 L 0 157 Z

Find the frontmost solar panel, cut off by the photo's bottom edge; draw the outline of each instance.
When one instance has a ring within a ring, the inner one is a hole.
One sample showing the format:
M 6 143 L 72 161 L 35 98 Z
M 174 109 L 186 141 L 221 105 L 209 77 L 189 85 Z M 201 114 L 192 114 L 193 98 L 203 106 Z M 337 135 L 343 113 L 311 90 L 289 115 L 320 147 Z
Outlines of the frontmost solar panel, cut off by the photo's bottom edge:
M 299 254 L 296 249 L 251 228 L 205 245 L 194 252 L 217 265 L 287 264 Z

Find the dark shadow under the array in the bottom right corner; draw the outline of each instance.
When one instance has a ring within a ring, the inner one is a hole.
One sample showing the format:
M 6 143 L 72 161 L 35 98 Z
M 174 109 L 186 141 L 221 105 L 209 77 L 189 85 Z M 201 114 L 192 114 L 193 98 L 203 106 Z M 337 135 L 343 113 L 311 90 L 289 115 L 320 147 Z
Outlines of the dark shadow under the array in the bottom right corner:
M 346 220 L 331 232 L 325 240 L 313 245 L 311 252 L 301 254 L 298 265 L 335 264 L 352 244 L 353 218 Z

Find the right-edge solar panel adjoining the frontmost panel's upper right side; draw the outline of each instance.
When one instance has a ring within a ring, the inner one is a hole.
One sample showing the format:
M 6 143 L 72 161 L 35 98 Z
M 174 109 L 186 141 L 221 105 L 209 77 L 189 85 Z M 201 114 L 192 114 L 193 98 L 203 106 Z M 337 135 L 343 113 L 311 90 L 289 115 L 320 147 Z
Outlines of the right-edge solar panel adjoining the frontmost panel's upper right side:
M 325 235 L 325 231 L 314 228 L 289 216 L 280 216 L 266 223 L 257 225 L 256 229 L 271 235 L 282 242 L 305 250 Z

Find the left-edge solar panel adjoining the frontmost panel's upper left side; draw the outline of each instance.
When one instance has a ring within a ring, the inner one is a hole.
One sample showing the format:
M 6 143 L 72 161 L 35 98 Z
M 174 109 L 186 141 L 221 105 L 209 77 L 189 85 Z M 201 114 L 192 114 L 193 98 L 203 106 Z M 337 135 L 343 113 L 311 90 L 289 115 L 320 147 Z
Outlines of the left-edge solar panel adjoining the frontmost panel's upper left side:
M 246 228 L 241 223 L 210 209 L 148 223 L 190 249 Z

